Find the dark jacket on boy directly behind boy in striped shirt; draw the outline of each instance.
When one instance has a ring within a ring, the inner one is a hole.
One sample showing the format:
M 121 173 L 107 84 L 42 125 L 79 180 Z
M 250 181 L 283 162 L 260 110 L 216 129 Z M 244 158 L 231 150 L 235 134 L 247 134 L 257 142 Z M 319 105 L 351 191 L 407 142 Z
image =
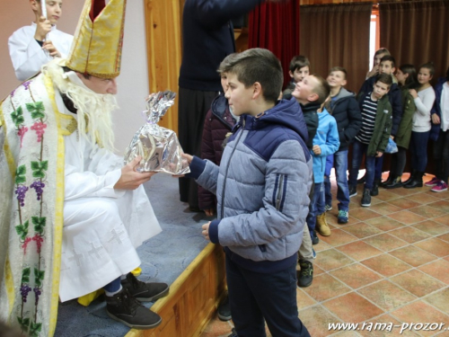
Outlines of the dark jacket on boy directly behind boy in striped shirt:
M 374 83 L 376 80 L 377 76 L 372 76 L 364 82 L 357 94 L 358 101 L 360 101 L 361 98 L 365 97 L 366 93 L 373 92 Z M 396 77 L 394 77 L 394 75 L 392 75 L 392 80 L 393 84 L 390 87 L 390 91 L 387 93 L 387 96 L 390 104 L 392 105 L 392 136 L 396 136 L 402 118 L 402 95 L 401 89 L 398 86 L 398 81 L 396 80 Z

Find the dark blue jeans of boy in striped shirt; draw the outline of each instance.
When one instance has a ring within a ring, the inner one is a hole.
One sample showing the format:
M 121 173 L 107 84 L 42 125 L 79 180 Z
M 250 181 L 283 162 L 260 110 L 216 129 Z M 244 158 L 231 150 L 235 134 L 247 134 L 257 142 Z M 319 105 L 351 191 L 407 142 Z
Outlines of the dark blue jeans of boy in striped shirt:
M 352 147 L 352 163 L 351 169 L 349 170 L 349 185 L 357 186 L 358 169 L 360 168 L 360 164 L 362 164 L 362 159 L 365 155 L 365 189 L 372 190 L 375 171 L 375 156 L 366 155 L 367 149 L 367 144 L 363 144 L 357 139 L 354 140 L 354 145 Z

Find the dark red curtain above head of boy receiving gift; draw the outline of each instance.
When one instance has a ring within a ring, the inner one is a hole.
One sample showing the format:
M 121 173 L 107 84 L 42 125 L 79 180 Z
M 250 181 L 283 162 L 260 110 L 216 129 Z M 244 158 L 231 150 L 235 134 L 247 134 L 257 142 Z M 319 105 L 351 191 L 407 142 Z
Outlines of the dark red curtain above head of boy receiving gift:
M 248 18 L 248 48 L 271 50 L 284 69 L 284 86 L 290 81 L 290 60 L 299 55 L 299 1 L 263 3 Z

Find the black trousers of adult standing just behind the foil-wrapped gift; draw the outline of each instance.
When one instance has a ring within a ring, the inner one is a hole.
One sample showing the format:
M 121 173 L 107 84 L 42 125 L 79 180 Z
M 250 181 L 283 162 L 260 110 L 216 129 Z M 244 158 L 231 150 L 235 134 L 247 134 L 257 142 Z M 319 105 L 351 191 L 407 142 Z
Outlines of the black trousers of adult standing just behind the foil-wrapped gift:
M 216 95 L 216 92 L 180 88 L 178 138 L 184 153 L 201 157 L 204 120 Z M 198 184 L 193 179 L 180 178 L 180 201 L 198 208 Z

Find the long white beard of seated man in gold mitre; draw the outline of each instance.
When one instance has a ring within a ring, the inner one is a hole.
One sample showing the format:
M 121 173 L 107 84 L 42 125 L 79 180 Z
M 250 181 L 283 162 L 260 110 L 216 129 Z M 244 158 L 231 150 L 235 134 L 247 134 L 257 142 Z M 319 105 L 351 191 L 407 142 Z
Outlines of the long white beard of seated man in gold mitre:
M 119 108 L 115 95 L 92 92 L 74 72 L 64 73 L 60 62 L 60 59 L 50 61 L 42 67 L 42 72 L 51 78 L 59 92 L 66 94 L 74 102 L 80 136 L 113 152 L 111 112 Z

